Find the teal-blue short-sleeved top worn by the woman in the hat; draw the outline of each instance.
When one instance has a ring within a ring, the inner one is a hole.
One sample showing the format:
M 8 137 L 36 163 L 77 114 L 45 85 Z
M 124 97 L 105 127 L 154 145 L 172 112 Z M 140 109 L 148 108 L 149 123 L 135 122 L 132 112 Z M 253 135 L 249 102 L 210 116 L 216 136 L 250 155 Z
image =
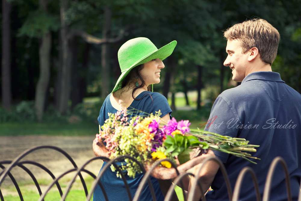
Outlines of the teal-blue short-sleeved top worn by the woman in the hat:
M 149 95 L 147 95 L 149 94 Z M 144 96 L 145 95 L 145 96 Z M 151 95 L 151 96 L 150 96 Z M 144 97 L 143 97 L 144 96 Z M 143 98 L 142 98 L 143 97 Z M 156 111 L 161 111 L 162 115 L 161 117 L 171 114 L 172 110 L 169 107 L 169 104 L 166 100 L 166 98 L 161 95 L 160 93 L 157 92 L 149 92 L 149 91 L 144 91 L 140 93 L 137 97 L 137 99 L 142 98 L 141 100 L 134 100 L 130 107 L 128 108 L 135 108 L 140 111 L 144 111 L 148 114 L 155 114 Z M 108 113 L 116 113 L 117 110 L 113 108 L 110 102 L 110 94 L 107 96 L 107 98 L 104 101 L 104 104 L 101 107 L 99 117 L 98 117 L 98 123 L 99 125 L 103 125 L 104 121 L 109 118 Z M 138 113 L 135 116 L 142 116 L 146 115 L 145 113 Z M 128 117 L 132 117 L 133 115 L 129 115 Z M 104 165 L 107 163 L 104 162 L 102 168 Z M 135 195 L 135 192 L 138 188 L 138 185 L 140 184 L 140 181 L 142 180 L 142 177 L 144 174 L 136 174 L 135 178 L 129 177 L 125 173 L 126 180 L 129 184 L 129 188 L 131 191 L 132 198 Z M 129 200 L 128 194 L 126 192 L 126 188 L 124 186 L 123 180 L 121 178 L 116 177 L 116 172 L 112 172 L 110 168 L 107 169 L 107 171 L 104 173 L 103 177 L 100 179 L 102 185 L 104 186 L 104 189 L 107 193 L 108 199 L 111 200 Z M 164 196 L 162 194 L 162 191 L 160 189 L 158 180 L 154 177 L 151 177 L 151 182 L 154 187 L 154 191 L 156 194 L 156 198 L 158 201 L 164 200 Z M 93 194 L 93 201 L 101 201 L 105 200 L 103 193 L 100 189 L 100 187 L 97 185 L 94 194 Z M 142 201 L 151 201 L 151 191 L 149 190 L 148 184 L 144 187 L 144 190 L 142 191 L 139 200 Z

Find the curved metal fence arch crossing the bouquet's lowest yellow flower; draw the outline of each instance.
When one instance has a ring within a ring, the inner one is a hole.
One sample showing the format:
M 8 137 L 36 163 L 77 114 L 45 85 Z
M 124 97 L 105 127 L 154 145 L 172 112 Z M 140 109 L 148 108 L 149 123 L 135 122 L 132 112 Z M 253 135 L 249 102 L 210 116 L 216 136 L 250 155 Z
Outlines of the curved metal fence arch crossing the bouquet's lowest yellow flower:
M 133 201 L 138 201 L 139 196 L 140 196 L 140 194 L 141 194 L 141 192 L 142 192 L 142 189 L 143 189 L 143 187 L 144 187 L 146 181 L 147 181 L 147 180 L 150 180 L 149 176 L 151 175 L 151 172 L 152 172 L 152 171 L 153 171 L 153 170 L 154 170 L 161 162 L 163 162 L 163 161 L 168 161 L 168 162 L 170 162 L 171 165 L 172 165 L 172 167 L 175 168 L 175 171 L 176 171 L 177 175 L 179 175 L 179 171 L 178 171 L 178 169 L 177 169 L 177 165 L 176 165 L 174 162 L 172 162 L 171 160 L 169 160 L 169 159 L 161 159 L 161 160 L 159 160 L 159 161 L 156 161 L 156 162 L 154 163 L 154 165 L 151 167 L 151 169 L 149 169 L 149 170 L 144 174 L 144 176 L 143 176 L 143 178 L 142 178 L 142 180 L 141 180 L 141 182 L 140 182 L 140 184 L 139 184 L 139 186 L 138 186 L 138 188 L 137 188 L 137 190 L 136 190 L 136 193 L 135 193 L 135 196 L 134 196 L 134 198 L 133 198 Z M 184 185 L 183 185 L 183 186 L 184 186 Z M 153 201 L 156 201 L 156 197 L 155 197 L 155 199 L 154 199 L 154 197 L 153 197 Z

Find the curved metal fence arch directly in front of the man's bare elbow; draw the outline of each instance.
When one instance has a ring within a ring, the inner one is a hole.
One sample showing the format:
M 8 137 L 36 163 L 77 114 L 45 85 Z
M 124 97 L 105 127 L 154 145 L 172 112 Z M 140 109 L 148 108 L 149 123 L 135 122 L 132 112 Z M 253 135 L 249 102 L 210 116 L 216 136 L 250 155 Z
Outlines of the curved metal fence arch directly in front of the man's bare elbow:
M 190 189 L 190 192 L 188 194 L 188 201 L 192 201 L 193 200 L 193 198 L 194 198 L 194 191 L 195 191 L 197 182 L 199 182 L 198 175 L 200 174 L 200 171 L 203 168 L 203 166 L 205 165 L 205 163 L 208 162 L 208 161 L 215 161 L 215 162 L 217 162 L 219 164 L 219 169 L 221 170 L 221 172 L 223 174 L 223 177 L 225 179 L 225 183 L 226 183 L 226 187 L 227 187 L 227 191 L 228 191 L 229 200 L 232 200 L 232 189 L 231 189 L 231 184 L 230 184 L 230 181 L 229 181 L 229 177 L 228 177 L 228 173 L 226 171 L 225 165 L 218 158 L 210 156 L 209 158 L 207 158 L 207 159 L 204 160 L 203 165 L 197 170 L 197 174 L 196 174 L 197 180 L 194 182 L 194 184 L 191 185 L 191 189 Z

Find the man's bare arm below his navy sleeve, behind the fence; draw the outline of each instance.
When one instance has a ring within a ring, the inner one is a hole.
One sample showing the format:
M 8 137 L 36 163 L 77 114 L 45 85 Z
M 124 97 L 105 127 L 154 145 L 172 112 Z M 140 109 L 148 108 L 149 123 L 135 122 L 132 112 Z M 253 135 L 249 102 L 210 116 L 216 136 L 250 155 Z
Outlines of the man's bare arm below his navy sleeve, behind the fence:
M 203 154 L 204 155 L 204 154 Z M 214 153 L 212 150 L 208 150 L 207 154 L 205 154 L 206 156 L 214 156 Z M 203 163 L 200 163 L 198 165 L 195 165 L 193 168 L 193 174 L 195 175 L 195 177 L 199 176 L 201 185 L 203 187 L 204 192 L 207 192 L 207 190 L 209 189 L 209 187 L 211 186 L 213 179 L 217 173 L 217 171 L 219 170 L 219 164 L 216 163 L 215 161 L 207 161 L 203 168 L 200 171 L 199 175 L 197 174 L 198 169 L 203 165 Z M 195 177 L 191 177 L 190 179 L 190 183 L 189 183 L 189 190 L 191 190 L 191 186 L 192 184 L 194 184 L 196 178 Z M 188 190 L 188 192 L 189 192 Z M 197 187 L 197 189 L 194 192 L 194 200 L 198 201 L 201 199 L 203 195 L 201 195 L 200 189 Z

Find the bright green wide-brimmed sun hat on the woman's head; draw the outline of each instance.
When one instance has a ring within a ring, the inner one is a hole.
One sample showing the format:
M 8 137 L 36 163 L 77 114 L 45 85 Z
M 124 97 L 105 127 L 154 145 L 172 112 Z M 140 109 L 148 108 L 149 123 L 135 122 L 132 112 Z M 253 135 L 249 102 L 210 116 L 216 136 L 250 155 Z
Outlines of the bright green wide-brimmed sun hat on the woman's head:
M 148 38 L 139 37 L 125 42 L 118 50 L 118 61 L 120 65 L 121 75 L 112 91 L 121 89 L 122 80 L 136 66 L 144 64 L 152 59 L 159 58 L 163 61 L 167 58 L 177 45 L 177 41 L 172 41 L 160 49 Z

